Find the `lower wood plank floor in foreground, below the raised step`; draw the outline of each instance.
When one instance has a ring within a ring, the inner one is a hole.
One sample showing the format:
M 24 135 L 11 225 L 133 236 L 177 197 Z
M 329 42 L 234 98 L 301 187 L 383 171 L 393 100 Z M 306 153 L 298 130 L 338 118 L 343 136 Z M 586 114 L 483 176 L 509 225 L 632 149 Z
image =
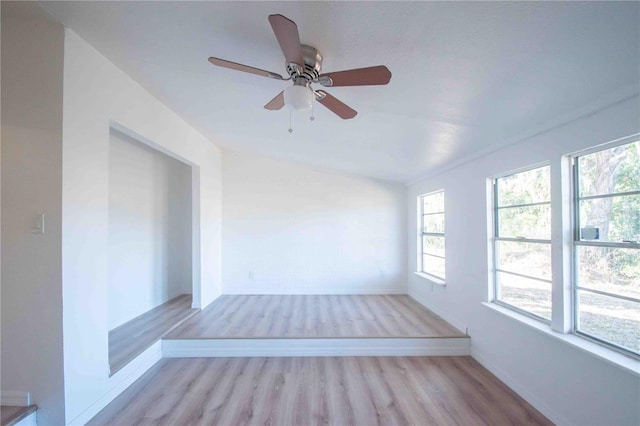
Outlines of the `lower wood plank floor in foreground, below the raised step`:
M 549 425 L 471 357 L 164 359 L 90 425 Z

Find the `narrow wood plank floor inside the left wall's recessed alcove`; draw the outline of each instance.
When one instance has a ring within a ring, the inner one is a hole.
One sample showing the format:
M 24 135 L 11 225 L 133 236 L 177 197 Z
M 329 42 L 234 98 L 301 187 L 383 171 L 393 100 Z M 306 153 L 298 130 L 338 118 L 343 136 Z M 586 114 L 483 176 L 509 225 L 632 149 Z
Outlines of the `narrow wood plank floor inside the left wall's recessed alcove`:
M 199 309 L 191 309 L 191 295 L 183 294 L 109 331 L 111 375 L 144 352 Z

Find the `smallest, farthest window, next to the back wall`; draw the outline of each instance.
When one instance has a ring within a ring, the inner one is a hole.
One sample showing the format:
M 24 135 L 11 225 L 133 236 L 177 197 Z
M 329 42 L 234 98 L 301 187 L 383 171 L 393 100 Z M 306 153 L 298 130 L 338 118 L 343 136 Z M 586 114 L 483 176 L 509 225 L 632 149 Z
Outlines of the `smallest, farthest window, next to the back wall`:
M 444 281 L 444 190 L 420 196 L 420 271 Z

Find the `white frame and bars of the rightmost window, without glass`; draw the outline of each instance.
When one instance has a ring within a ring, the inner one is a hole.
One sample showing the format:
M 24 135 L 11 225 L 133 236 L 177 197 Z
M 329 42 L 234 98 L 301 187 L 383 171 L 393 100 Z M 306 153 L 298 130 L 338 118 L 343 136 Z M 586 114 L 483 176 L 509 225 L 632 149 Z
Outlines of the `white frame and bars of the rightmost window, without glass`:
M 613 149 L 619 146 L 628 145 L 632 143 L 640 142 L 640 138 L 638 135 L 632 135 L 627 138 L 622 138 L 612 143 L 607 143 L 604 145 L 598 145 L 587 150 L 580 151 L 578 153 L 574 153 L 570 156 L 571 158 L 571 333 L 584 338 L 586 340 L 595 342 L 597 344 L 603 345 L 611 350 L 623 353 L 632 358 L 639 359 L 640 352 L 634 352 L 629 350 L 623 346 L 620 346 L 614 342 L 610 342 L 606 339 L 599 338 L 597 336 L 591 335 L 584 331 L 578 329 L 579 324 L 579 307 L 578 307 L 578 292 L 580 290 L 586 291 L 591 294 L 598 294 L 605 297 L 610 297 L 619 300 L 631 301 L 634 303 L 640 304 L 640 299 L 636 299 L 633 297 L 623 296 L 619 294 L 609 293 L 602 290 L 596 290 L 588 287 L 582 287 L 579 285 L 579 266 L 578 266 L 578 248 L 579 247 L 610 247 L 610 248 L 622 248 L 622 249 L 637 249 L 640 250 L 640 241 L 591 241 L 591 240 L 583 240 L 581 238 L 581 216 L 580 216 L 580 201 L 583 200 L 591 200 L 598 198 L 615 198 L 619 196 L 640 196 L 640 190 L 636 191 L 626 191 L 626 192 L 613 192 L 607 194 L 597 194 L 597 195 L 587 195 L 584 197 L 580 196 L 580 166 L 579 159 L 580 157 L 585 157 L 587 155 L 595 154 L 597 152 L 606 151 L 609 149 Z

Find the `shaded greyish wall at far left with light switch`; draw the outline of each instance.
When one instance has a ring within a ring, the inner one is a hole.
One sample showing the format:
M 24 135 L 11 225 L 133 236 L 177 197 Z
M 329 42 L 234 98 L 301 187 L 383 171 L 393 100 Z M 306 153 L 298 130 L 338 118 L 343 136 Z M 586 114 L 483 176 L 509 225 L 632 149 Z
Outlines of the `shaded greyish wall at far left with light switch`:
M 2 390 L 64 422 L 62 26 L 2 2 Z M 31 229 L 46 217 L 45 234 Z

